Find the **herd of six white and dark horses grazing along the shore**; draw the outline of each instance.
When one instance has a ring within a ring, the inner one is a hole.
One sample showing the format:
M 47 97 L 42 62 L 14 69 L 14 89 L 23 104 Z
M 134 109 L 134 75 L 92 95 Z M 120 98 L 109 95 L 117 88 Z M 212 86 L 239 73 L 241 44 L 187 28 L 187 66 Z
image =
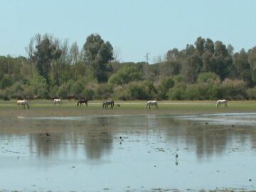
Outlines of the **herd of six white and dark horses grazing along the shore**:
M 78 103 L 77 103 L 77 106 L 82 106 L 83 103 L 85 104 L 86 107 L 89 107 L 88 105 L 88 100 L 78 100 Z M 53 100 L 53 105 L 56 106 L 60 106 L 60 105 L 63 105 L 63 102 L 61 99 L 54 99 Z M 216 102 L 216 107 L 221 107 L 221 105 L 224 105 L 224 107 L 228 107 L 228 100 L 218 100 Z M 23 107 L 24 109 L 28 109 L 29 110 L 29 104 L 28 104 L 28 100 L 17 100 L 17 106 L 18 107 Z M 113 110 L 114 109 L 114 101 L 113 100 L 106 100 L 105 102 L 102 103 L 102 110 L 108 110 L 109 109 L 109 106 L 110 106 L 110 110 Z M 119 104 L 116 105 L 117 107 L 120 107 Z M 150 109 L 151 106 L 154 106 L 156 107 L 156 109 L 158 109 L 158 105 L 157 105 L 157 101 L 154 100 L 154 101 L 148 101 L 146 102 L 146 109 Z

